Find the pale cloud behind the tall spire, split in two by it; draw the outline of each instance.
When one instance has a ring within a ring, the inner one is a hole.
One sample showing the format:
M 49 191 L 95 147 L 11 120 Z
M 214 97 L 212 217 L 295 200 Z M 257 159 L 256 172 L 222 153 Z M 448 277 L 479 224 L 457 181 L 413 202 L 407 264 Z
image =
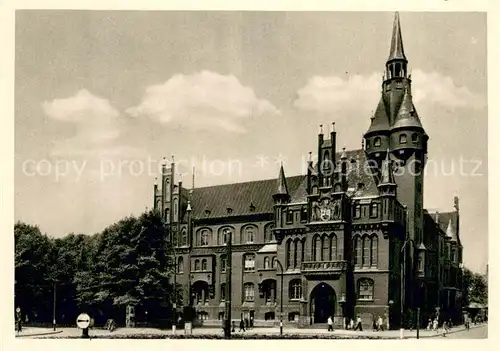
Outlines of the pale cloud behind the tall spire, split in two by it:
M 294 106 L 320 113 L 357 110 L 367 114 L 375 109 L 380 98 L 381 82 L 382 76 L 377 73 L 346 78 L 312 77 L 297 91 Z M 420 106 L 434 104 L 451 109 L 485 106 L 483 97 L 467 87 L 457 86 L 451 77 L 438 72 L 413 70 L 412 93 L 415 103 Z

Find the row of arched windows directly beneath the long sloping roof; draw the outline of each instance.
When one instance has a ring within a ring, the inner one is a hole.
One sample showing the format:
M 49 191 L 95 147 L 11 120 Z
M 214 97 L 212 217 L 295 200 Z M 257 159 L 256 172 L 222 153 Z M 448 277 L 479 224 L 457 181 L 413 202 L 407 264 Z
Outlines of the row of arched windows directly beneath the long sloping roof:
M 273 237 L 273 224 L 269 223 L 264 227 L 264 242 L 270 242 L 274 239 Z M 259 228 L 256 225 L 246 225 L 241 228 L 241 243 L 252 244 L 258 240 Z M 196 246 L 211 246 L 211 245 L 225 245 L 229 240 L 229 234 L 233 235 L 234 240 L 234 228 L 223 227 L 218 231 L 217 239 L 213 237 L 212 230 L 210 228 L 203 228 L 196 232 L 195 245 Z

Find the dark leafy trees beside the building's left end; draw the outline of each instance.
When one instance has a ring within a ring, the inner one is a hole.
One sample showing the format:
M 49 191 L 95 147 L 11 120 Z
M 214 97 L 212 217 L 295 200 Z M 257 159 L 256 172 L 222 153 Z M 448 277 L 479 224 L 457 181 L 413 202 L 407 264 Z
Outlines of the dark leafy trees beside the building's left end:
M 30 320 L 74 324 L 87 311 L 96 320 L 123 321 L 125 306 L 168 319 L 174 288 L 166 226 L 156 212 L 127 217 L 94 235 L 53 239 L 18 222 L 15 235 L 15 303 Z M 179 301 L 179 300 L 178 300 Z

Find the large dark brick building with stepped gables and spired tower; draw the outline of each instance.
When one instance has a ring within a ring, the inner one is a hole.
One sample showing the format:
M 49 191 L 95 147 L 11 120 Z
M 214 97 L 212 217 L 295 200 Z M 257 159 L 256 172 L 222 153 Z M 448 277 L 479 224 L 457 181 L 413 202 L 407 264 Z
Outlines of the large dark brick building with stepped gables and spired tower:
M 333 316 L 340 326 L 360 315 L 365 325 L 381 316 L 392 329 L 402 303 L 405 320 L 417 307 L 422 318 L 459 319 L 458 198 L 453 212 L 423 208 L 427 141 L 396 14 L 363 149 L 339 152 L 332 128 L 318 135 L 305 175 L 286 177 L 282 166 L 277 179 L 194 189 L 175 183 L 173 162 L 163 166 L 154 208 L 171 228 L 183 304 L 201 323 L 222 325 L 231 232 L 233 320 L 279 323 L 282 304 L 285 325 Z

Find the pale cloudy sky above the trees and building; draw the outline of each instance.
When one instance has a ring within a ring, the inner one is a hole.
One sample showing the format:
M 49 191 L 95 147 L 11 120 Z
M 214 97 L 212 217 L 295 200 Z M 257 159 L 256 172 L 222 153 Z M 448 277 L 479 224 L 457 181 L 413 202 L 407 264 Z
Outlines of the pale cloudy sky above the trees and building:
M 93 234 L 184 186 L 303 174 L 318 126 L 361 148 L 392 12 L 17 11 L 15 220 Z M 488 260 L 486 15 L 400 13 L 429 140 L 424 203 L 460 197 L 465 265 Z

